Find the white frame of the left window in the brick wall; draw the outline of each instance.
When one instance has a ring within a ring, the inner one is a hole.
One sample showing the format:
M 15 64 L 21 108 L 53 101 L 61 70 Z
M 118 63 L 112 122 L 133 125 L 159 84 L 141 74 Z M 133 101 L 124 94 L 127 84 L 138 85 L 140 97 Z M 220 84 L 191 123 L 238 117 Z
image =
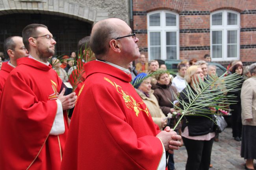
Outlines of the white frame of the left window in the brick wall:
M 160 26 L 149 26 L 149 16 L 160 13 Z M 165 26 L 165 14 L 170 13 L 176 16 L 176 26 Z M 176 32 L 176 59 L 180 58 L 180 30 L 179 30 L 179 14 L 168 10 L 158 10 L 147 13 L 147 33 L 148 33 L 148 60 L 150 56 L 150 32 L 160 32 L 161 60 L 167 59 L 166 53 L 166 32 Z

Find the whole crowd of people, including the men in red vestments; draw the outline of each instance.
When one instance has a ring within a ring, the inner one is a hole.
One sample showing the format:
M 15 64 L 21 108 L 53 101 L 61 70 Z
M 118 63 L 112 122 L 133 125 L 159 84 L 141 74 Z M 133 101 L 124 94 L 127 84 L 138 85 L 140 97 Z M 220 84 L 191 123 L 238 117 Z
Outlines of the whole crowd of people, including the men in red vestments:
M 213 166 L 211 148 L 219 141 L 211 120 L 216 109 L 204 108 L 213 113 L 211 119 L 186 115 L 178 123 L 176 107 L 177 98 L 189 101 L 187 86 L 196 94 L 195 82 L 218 76 L 210 55 L 182 60 L 172 75 L 165 64 L 147 62 L 138 41 L 117 18 L 97 22 L 91 36 L 78 42 L 78 55 L 52 57 L 56 41 L 43 24 L 30 24 L 22 37 L 7 38 L 7 56 L 0 53 L 0 169 L 175 170 L 173 150 L 182 145 L 186 170 Z M 85 46 L 96 60 L 85 63 Z M 236 101 L 230 105 L 232 135 L 241 141 L 245 169 L 253 170 L 256 64 L 244 67 L 236 60 L 228 71 L 243 79 L 227 95 Z M 76 87 L 74 92 L 65 82 Z

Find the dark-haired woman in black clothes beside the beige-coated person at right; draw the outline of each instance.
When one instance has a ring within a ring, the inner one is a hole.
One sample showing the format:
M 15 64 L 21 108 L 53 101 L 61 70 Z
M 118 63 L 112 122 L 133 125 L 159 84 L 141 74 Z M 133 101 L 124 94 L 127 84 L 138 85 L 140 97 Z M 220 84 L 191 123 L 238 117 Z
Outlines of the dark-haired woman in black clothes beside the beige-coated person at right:
M 243 66 L 240 64 L 236 64 L 231 68 L 231 73 L 237 73 L 241 75 L 240 79 L 243 79 Z M 242 82 L 243 83 L 243 82 Z M 228 95 L 234 95 L 235 98 L 230 100 L 236 101 L 234 104 L 230 104 L 231 109 L 231 119 L 232 119 L 232 134 L 236 141 L 241 141 L 241 133 L 242 133 L 242 120 L 241 120 L 241 88 L 242 83 L 239 85 L 236 91 L 228 92 Z

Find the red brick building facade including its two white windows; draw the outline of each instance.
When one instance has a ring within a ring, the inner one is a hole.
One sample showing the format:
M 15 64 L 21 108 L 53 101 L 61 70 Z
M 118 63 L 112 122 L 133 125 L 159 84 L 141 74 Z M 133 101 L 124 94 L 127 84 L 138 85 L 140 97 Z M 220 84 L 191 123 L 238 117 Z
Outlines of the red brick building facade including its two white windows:
M 133 0 L 133 28 L 149 60 L 256 62 L 255 0 Z

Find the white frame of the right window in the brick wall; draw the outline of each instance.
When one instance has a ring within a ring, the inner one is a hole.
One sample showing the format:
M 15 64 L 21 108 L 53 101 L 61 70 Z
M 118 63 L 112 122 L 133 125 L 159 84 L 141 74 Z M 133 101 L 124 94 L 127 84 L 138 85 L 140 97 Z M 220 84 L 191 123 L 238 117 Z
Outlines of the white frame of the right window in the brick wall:
M 222 13 L 222 25 L 213 26 L 212 25 L 212 15 L 216 13 Z M 235 13 L 237 15 L 237 25 L 228 25 L 228 13 Z M 236 30 L 237 31 L 237 57 L 228 57 L 227 53 L 227 40 L 228 40 L 228 31 Z M 222 58 L 213 58 L 212 61 L 223 61 L 223 60 L 239 60 L 240 56 L 240 13 L 231 10 L 219 10 L 211 13 L 210 15 L 210 51 L 212 55 L 212 31 L 222 31 Z

